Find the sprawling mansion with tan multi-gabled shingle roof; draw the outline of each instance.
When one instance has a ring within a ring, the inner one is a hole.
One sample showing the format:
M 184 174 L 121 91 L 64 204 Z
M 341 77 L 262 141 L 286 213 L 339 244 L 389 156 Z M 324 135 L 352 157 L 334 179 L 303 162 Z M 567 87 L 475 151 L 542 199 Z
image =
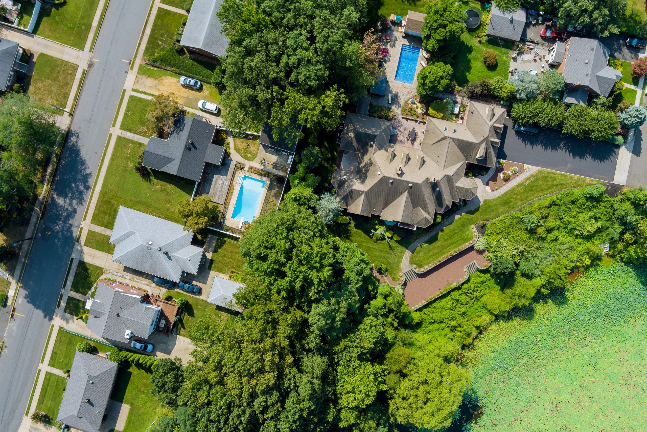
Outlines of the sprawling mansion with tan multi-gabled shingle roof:
M 348 114 L 341 165 L 331 179 L 348 212 L 427 227 L 460 199 L 476 196 L 468 162 L 496 164 L 505 109 L 470 102 L 465 124 L 429 118 L 421 148 L 389 142 L 391 122 Z

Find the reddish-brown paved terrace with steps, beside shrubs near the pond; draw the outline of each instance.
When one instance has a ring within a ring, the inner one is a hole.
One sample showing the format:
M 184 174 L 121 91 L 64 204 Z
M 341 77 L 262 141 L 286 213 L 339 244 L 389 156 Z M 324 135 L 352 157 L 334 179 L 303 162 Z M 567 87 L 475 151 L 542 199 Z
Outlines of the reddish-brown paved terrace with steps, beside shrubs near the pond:
M 425 302 L 446 286 L 460 282 L 465 278 L 465 266 L 474 261 L 479 267 L 483 267 L 487 262 L 483 253 L 475 251 L 474 247 L 468 247 L 444 261 L 443 264 L 439 264 L 426 273 L 422 273 L 416 279 L 407 282 L 404 299 L 409 306 Z

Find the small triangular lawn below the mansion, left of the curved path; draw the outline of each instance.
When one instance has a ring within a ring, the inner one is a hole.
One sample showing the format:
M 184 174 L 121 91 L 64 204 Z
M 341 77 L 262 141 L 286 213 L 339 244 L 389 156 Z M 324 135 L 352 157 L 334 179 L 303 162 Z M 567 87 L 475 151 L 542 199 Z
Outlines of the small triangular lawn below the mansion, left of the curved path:
M 331 231 L 338 237 L 346 240 L 347 242 L 356 243 L 362 251 L 368 255 L 369 260 L 373 264 L 386 264 L 388 269 L 389 276 L 391 279 L 397 282 L 400 279 L 400 264 L 402 263 L 402 256 L 406 248 L 413 242 L 411 240 L 411 235 L 407 233 L 407 230 L 404 228 L 396 229 L 395 233 L 400 236 L 401 240 L 397 242 L 391 240 L 391 245 L 389 245 L 384 240 L 375 240 L 371 236 L 371 230 L 375 226 L 371 223 L 375 223 L 375 219 L 371 219 L 371 222 L 366 225 L 352 225 L 350 223 L 333 223 L 330 225 Z M 380 225 L 384 225 L 383 221 L 378 222 Z M 393 227 L 387 225 L 387 229 L 391 230 Z M 410 231 L 413 233 L 413 231 Z

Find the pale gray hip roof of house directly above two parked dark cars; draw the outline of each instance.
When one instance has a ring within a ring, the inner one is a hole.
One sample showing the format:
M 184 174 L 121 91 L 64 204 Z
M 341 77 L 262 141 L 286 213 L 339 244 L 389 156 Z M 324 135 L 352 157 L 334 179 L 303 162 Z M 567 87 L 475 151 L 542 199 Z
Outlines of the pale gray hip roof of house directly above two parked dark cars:
M 179 223 L 120 206 L 110 236 L 113 262 L 179 282 L 182 271 L 197 273 L 203 255 L 192 239 Z

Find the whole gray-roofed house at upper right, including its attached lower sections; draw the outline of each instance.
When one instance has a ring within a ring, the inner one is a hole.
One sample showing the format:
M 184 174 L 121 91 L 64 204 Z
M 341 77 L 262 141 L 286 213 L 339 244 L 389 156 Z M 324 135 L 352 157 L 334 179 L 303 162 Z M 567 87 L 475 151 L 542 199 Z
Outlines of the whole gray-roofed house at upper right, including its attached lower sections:
M 555 43 L 549 54 L 549 64 L 566 81 L 565 104 L 586 105 L 589 95 L 608 96 L 622 72 L 609 66 L 610 51 L 597 39 L 570 38 Z

